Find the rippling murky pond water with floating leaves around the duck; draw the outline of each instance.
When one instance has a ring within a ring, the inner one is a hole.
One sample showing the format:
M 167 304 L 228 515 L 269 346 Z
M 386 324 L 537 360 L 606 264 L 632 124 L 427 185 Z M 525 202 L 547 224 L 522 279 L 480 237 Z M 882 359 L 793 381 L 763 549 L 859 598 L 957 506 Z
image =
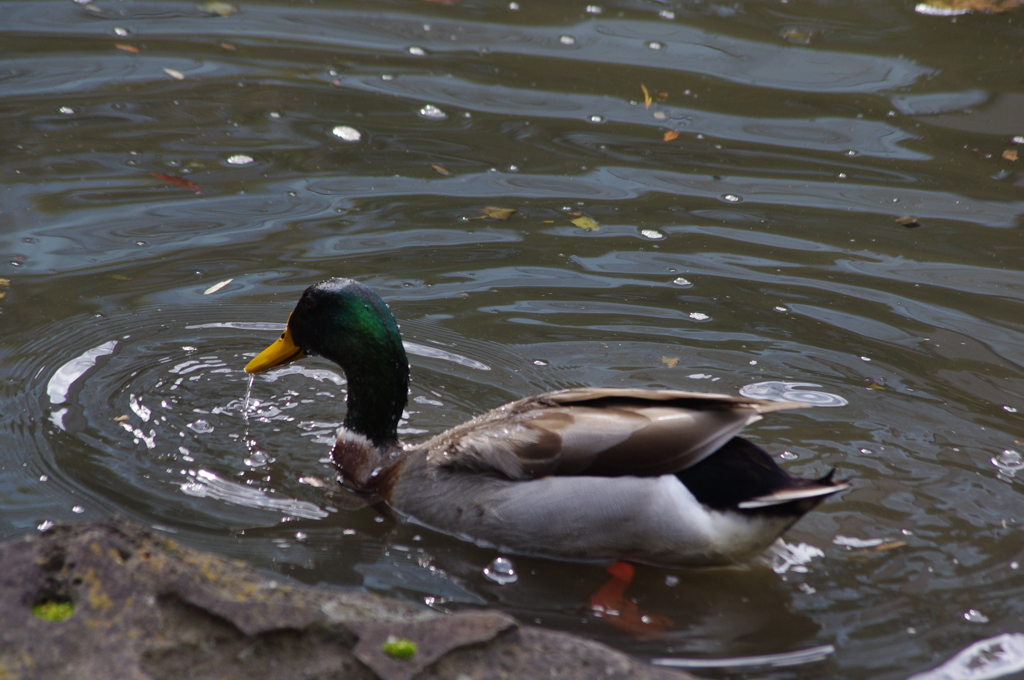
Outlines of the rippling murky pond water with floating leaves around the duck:
M 496 606 L 715 677 L 1024 663 L 1024 13 L 0 17 L 0 539 L 119 513 L 301 582 Z M 605 565 L 502 555 L 336 488 L 335 367 L 259 376 L 247 401 L 243 366 L 331 275 L 401 323 L 407 438 L 557 388 L 808 383 L 848 403 L 750 436 L 853 487 L 756 564 L 639 566 L 627 595 L 672 623 L 621 630 L 590 609 Z

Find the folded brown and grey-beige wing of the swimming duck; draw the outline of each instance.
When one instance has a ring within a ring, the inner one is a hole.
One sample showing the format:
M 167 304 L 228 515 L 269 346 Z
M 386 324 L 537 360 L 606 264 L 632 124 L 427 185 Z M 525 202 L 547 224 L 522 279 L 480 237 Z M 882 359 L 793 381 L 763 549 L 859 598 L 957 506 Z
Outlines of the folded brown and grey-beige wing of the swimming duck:
M 653 476 L 695 465 L 763 414 L 806 406 L 681 390 L 571 389 L 513 401 L 424 447 L 431 465 L 508 479 Z

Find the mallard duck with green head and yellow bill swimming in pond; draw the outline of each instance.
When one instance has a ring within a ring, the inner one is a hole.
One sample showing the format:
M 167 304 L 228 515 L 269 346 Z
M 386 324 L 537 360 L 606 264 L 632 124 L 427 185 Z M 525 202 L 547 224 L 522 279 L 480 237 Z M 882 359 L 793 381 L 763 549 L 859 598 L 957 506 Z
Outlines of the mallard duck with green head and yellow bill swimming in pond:
M 803 408 L 726 394 L 588 387 L 530 396 L 418 444 L 398 440 L 409 360 L 394 316 L 361 284 L 310 286 L 284 334 L 246 366 L 339 365 L 341 482 L 393 511 L 519 554 L 660 565 L 748 560 L 848 486 L 794 477 L 736 436 Z

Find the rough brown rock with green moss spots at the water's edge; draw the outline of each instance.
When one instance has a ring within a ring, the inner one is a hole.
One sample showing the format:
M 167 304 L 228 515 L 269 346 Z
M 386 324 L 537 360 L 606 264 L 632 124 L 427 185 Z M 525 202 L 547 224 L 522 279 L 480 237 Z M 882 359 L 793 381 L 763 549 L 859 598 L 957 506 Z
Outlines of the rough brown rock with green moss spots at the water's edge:
M 693 679 L 499 611 L 284 584 L 121 519 L 0 545 L 0 680 Z

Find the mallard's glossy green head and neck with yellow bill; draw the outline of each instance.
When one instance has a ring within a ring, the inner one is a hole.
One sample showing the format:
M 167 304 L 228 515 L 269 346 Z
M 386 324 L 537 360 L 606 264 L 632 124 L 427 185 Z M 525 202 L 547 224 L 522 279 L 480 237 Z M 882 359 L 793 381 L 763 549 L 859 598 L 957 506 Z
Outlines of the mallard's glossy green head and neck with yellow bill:
M 261 373 L 307 354 L 329 358 L 345 372 L 348 429 L 378 445 L 397 440 L 409 359 L 384 300 L 351 279 L 310 286 L 288 317 L 288 328 L 246 365 L 246 372 Z

